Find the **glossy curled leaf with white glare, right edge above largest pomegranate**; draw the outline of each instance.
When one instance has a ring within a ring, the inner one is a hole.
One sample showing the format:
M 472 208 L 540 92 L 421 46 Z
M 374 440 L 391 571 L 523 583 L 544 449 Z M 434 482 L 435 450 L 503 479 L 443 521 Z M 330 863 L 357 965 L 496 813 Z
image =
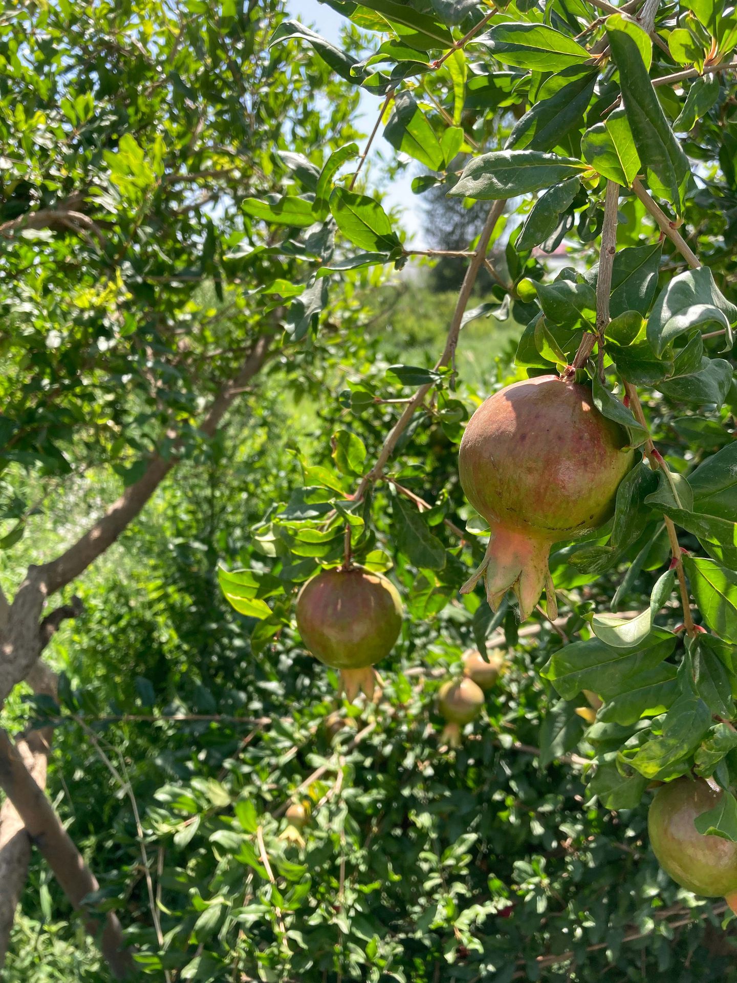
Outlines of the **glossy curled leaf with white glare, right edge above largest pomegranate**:
M 686 331 L 728 328 L 735 320 L 737 308 L 717 288 L 709 266 L 701 266 L 674 276 L 660 292 L 648 319 L 648 341 L 661 355 Z

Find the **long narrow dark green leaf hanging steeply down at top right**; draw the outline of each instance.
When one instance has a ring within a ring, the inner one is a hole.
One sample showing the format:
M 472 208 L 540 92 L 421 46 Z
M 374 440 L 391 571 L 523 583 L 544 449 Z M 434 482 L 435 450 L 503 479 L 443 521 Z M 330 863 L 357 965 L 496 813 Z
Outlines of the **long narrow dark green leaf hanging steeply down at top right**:
M 671 202 L 681 214 L 691 177 L 688 158 L 665 119 L 641 50 L 630 32 L 632 26 L 625 28 L 624 24 L 621 14 L 607 18 L 606 36 L 619 69 L 632 136 L 653 194 Z

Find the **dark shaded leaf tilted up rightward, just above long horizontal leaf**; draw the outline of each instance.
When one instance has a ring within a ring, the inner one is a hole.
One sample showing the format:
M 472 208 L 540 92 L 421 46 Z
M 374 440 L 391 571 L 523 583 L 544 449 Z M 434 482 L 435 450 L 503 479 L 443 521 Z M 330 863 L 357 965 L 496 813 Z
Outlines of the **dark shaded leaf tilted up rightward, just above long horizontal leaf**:
M 597 73 L 590 67 L 573 71 L 573 81 L 548 98 L 544 97 L 544 89 L 540 92 L 539 102 L 515 124 L 505 149 L 552 150 L 562 145 L 568 133 L 579 126 L 594 92 Z

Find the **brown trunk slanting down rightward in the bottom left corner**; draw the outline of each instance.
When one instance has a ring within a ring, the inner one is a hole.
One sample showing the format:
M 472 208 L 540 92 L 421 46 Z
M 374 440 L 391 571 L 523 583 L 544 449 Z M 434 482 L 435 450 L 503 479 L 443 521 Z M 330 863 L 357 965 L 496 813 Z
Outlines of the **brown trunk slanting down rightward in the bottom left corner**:
M 40 734 L 40 731 L 36 733 Z M 75 909 L 83 913 L 87 932 L 95 938 L 100 937 L 100 949 L 115 978 L 126 979 L 132 975 L 135 964 L 132 953 L 125 949 L 118 917 L 108 912 L 104 921 L 100 921 L 86 911 L 83 899 L 97 891 L 97 880 L 51 803 L 31 777 L 24 757 L 29 763 L 34 760 L 28 745 L 23 750 L 16 748 L 5 731 L 0 730 L 0 786 L 24 823 L 27 836 L 40 850 L 64 893 Z

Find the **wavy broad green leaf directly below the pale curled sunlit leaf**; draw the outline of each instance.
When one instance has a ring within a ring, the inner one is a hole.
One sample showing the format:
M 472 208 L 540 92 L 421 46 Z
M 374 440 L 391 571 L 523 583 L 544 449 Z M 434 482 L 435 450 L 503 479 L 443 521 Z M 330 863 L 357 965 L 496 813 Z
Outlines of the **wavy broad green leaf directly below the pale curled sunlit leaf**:
M 663 628 L 653 628 L 644 642 L 627 649 L 612 648 L 598 638 L 572 642 L 552 656 L 540 675 L 566 700 L 582 689 L 606 700 L 618 696 L 638 673 L 663 662 L 675 643 L 675 635 Z

